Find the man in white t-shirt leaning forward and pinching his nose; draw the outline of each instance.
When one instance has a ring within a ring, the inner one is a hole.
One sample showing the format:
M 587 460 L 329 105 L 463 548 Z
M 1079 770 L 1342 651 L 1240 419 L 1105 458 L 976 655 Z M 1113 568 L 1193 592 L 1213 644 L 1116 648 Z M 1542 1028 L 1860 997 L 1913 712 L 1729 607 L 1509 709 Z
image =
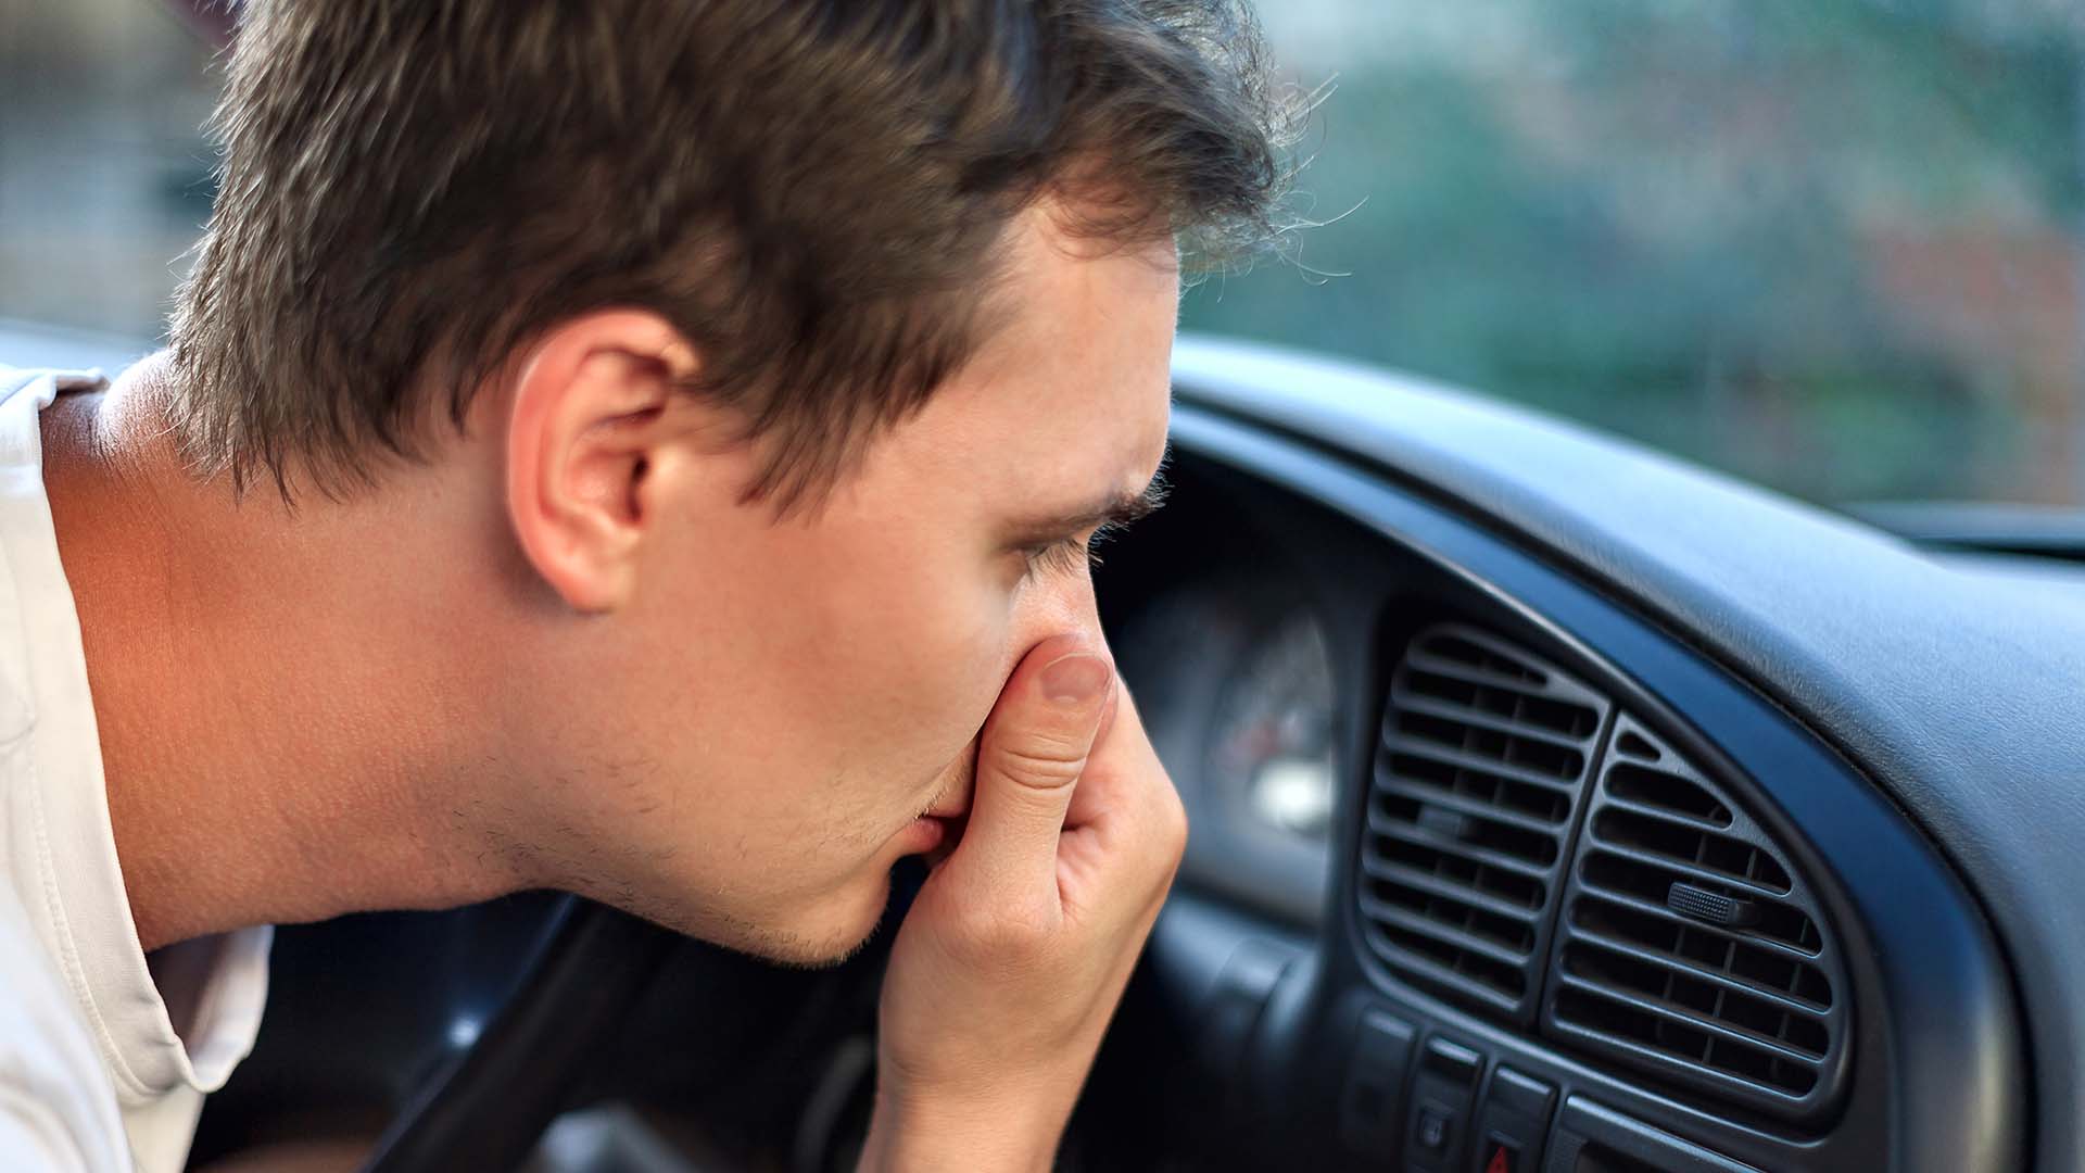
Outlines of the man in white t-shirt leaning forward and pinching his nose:
M 1047 1167 L 1184 841 L 1086 574 L 1284 106 L 1205 0 L 269 0 L 173 346 L 0 401 L 0 1167 L 179 1169 L 265 925 L 784 962 Z M 0 384 L 8 386 L 8 384 Z

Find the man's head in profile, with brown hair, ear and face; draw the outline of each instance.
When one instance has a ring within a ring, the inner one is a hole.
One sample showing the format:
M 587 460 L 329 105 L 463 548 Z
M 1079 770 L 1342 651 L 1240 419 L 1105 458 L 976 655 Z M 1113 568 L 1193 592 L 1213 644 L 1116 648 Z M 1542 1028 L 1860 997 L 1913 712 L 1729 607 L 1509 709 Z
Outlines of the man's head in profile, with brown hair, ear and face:
M 411 499 L 515 868 L 838 956 L 1022 653 L 1099 643 L 1178 248 L 1278 194 L 1255 46 L 1218 0 L 256 0 L 173 436 Z

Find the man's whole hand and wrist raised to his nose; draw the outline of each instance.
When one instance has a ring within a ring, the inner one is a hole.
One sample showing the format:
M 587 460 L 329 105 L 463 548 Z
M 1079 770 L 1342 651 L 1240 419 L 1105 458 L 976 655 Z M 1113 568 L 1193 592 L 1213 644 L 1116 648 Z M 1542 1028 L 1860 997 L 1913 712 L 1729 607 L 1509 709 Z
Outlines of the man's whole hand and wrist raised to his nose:
M 1013 670 L 961 843 L 882 989 L 863 1169 L 1049 1169 L 1186 845 L 1180 795 L 1105 653 Z

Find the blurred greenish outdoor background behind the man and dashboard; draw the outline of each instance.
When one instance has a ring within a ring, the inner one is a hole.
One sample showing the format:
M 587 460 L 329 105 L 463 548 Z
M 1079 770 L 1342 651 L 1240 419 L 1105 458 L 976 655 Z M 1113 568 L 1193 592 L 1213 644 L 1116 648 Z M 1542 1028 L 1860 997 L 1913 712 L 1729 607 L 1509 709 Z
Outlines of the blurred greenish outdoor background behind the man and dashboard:
M 1432 376 L 1822 503 L 2085 505 L 2079 0 L 1264 0 L 1330 86 L 1289 261 L 1184 326 Z M 0 0 L 0 317 L 150 342 L 211 52 Z M 17 355 L 17 359 L 33 359 Z

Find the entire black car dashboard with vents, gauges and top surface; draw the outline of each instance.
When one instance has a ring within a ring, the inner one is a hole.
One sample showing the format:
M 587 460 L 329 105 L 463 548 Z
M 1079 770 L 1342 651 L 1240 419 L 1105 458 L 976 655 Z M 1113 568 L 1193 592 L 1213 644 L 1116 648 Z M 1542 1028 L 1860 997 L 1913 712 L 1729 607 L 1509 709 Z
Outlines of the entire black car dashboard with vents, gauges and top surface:
M 1182 1167 L 2079 1165 L 2075 568 L 1409 380 L 1176 374 L 1180 507 L 1099 572 L 1193 827 L 1124 1010 L 1174 1027 L 1088 1104 L 1161 1087 Z

